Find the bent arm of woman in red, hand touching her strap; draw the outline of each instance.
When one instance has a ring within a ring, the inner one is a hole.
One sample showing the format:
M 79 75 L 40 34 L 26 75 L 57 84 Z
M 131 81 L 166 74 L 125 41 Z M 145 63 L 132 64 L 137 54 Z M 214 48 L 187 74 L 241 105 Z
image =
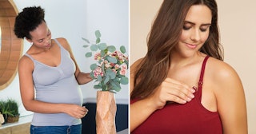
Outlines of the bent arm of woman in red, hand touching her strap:
M 134 72 L 140 61 L 136 61 L 130 67 L 130 93 L 134 89 Z M 194 89 L 170 78 L 154 91 L 150 97 L 130 104 L 130 132 L 142 124 L 154 111 L 163 108 L 166 101 L 174 101 L 179 104 L 186 104 L 194 98 Z

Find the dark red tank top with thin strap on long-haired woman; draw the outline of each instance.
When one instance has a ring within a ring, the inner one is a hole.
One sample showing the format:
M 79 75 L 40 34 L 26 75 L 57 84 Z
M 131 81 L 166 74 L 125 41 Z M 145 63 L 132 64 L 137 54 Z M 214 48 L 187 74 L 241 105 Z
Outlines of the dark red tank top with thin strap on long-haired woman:
M 203 74 L 208 56 L 202 63 L 198 91 L 186 104 L 166 104 L 153 112 L 147 120 L 135 128 L 132 134 L 222 134 L 222 122 L 218 112 L 210 112 L 201 104 Z M 130 104 L 138 101 L 131 100 Z

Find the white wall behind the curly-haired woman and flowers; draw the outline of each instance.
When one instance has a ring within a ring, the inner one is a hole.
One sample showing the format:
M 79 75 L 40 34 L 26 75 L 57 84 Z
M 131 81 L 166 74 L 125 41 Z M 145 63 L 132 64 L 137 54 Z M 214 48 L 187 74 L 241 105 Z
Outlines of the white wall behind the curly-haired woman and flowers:
M 125 45 L 127 51 L 129 46 L 129 1 L 128 0 L 14 0 L 18 11 L 26 6 L 42 6 L 46 11 L 46 22 L 52 32 L 52 37 L 66 37 L 74 53 L 74 57 L 83 72 L 90 71 L 93 60 L 87 59 L 83 49 L 86 37 L 94 41 L 94 31 L 100 30 L 102 41 L 111 45 Z M 24 53 L 30 47 L 24 41 Z M 96 91 L 93 82 L 82 85 L 84 101 L 94 101 Z M 128 85 L 123 85 L 122 90 L 115 94 L 117 103 L 128 104 Z M 18 100 L 21 104 L 21 116 L 30 114 L 22 107 L 19 92 L 18 75 L 14 81 L 0 91 L 0 100 L 7 97 Z

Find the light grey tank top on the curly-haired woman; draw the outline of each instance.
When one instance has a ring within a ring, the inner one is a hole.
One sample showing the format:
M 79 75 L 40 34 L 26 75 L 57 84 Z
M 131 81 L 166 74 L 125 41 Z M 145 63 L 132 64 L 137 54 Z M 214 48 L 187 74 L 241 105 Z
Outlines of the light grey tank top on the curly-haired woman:
M 35 99 L 49 103 L 78 104 L 82 105 L 82 93 L 74 76 L 75 65 L 70 53 L 57 42 L 61 49 L 61 63 L 57 67 L 45 65 L 34 61 L 33 81 L 36 91 Z M 63 126 L 81 124 L 81 119 L 76 119 L 66 113 L 37 113 L 34 112 L 32 123 L 34 126 Z

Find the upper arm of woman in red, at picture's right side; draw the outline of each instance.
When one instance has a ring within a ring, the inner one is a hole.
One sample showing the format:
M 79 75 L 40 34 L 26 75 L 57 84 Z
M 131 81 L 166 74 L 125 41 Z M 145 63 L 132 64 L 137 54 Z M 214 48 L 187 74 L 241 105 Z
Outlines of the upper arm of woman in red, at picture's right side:
M 217 73 L 216 73 L 217 74 Z M 224 134 L 246 134 L 246 98 L 242 82 L 230 65 L 224 63 L 216 77 L 216 98 Z

